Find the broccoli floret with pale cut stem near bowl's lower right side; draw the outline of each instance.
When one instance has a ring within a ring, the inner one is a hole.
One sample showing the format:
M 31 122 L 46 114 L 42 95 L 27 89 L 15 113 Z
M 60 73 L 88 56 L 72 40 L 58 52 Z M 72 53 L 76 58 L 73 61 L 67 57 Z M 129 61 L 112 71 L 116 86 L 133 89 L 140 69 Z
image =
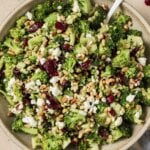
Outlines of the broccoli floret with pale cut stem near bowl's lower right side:
M 127 109 L 125 112 L 126 120 L 135 124 L 143 123 L 143 120 L 141 120 L 141 117 L 142 117 L 141 105 L 135 105 L 134 107 Z

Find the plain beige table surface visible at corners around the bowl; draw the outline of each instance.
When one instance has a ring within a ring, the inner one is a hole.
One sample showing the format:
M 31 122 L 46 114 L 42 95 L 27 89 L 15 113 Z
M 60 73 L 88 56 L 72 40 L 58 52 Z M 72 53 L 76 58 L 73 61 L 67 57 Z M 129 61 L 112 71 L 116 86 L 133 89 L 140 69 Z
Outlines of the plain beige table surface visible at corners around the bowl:
M 13 11 L 15 7 L 19 6 L 19 4 L 21 4 L 23 1 L 25 0 L 0 0 L 0 23 Z M 135 7 L 150 24 L 150 6 L 145 6 L 144 0 L 126 1 Z M 20 148 L 16 147 L 16 145 L 7 137 L 1 127 L 0 150 L 20 150 Z

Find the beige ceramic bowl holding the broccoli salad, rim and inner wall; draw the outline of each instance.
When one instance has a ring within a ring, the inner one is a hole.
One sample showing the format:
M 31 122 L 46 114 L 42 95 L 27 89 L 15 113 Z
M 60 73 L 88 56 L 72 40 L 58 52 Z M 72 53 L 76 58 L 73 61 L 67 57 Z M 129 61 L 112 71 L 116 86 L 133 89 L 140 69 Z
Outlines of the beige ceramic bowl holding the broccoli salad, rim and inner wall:
M 99 2 L 100 0 L 95 0 Z M 109 0 L 101 0 L 103 3 L 110 5 Z M 30 10 L 37 3 L 42 2 L 42 0 L 25 0 L 18 8 L 13 10 L 11 14 L 5 19 L 5 21 L 0 26 L 0 40 L 7 34 L 10 27 L 13 26 L 15 20 L 23 15 L 25 12 Z M 146 45 L 146 56 L 150 58 L 150 26 L 141 17 L 141 15 L 129 4 L 123 3 L 121 9 L 133 18 L 134 27 L 143 32 L 143 39 Z M 150 59 L 149 59 L 150 63 Z M 102 150 L 125 150 L 132 146 L 147 130 L 150 125 L 150 108 L 146 107 L 145 111 L 145 123 L 143 125 L 134 126 L 133 135 L 129 139 L 120 140 L 114 144 L 104 145 Z M 20 149 L 32 149 L 30 136 L 24 133 L 12 133 L 11 122 L 12 120 L 7 117 L 7 103 L 4 97 L 0 96 L 0 126 L 3 128 L 9 139 L 16 144 L 16 147 Z M 7 144 L 7 143 L 6 143 Z

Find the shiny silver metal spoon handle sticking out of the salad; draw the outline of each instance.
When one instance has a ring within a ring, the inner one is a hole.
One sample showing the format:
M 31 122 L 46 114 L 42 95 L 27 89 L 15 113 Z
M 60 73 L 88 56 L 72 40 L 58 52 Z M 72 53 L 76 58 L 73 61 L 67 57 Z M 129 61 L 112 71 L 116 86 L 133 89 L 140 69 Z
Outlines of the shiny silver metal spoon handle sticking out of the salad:
M 108 14 L 107 14 L 107 18 L 106 18 L 106 23 L 109 23 L 112 15 L 114 14 L 114 12 L 117 10 L 117 8 L 120 6 L 120 4 L 123 2 L 123 0 L 116 0 L 113 4 L 113 6 L 111 7 L 111 9 L 109 10 Z

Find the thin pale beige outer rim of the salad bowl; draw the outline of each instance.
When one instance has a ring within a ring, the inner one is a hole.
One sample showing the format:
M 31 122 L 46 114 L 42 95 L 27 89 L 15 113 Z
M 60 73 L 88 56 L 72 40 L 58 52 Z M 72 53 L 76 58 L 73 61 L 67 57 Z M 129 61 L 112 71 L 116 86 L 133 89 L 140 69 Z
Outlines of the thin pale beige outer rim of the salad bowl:
M 14 9 L 12 9 L 9 14 L 7 15 L 7 17 L 2 21 L 2 23 L 0 24 L 0 34 L 2 33 L 3 29 L 5 28 L 5 26 L 8 24 L 8 22 L 17 14 L 19 13 L 23 8 L 25 8 L 26 6 L 28 6 L 30 3 L 33 3 L 33 0 L 26 0 L 25 2 L 19 3 Z M 143 24 L 143 27 L 145 27 L 145 29 L 148 31 L 148 34 L 150 35 L 150 25 L 147 23 L 147 21 L 143 18 L 143 16 L 136 10 L 136 8 L 134 8 L 133 6 L 131 6 L 128 2 L 123 2 L 122 6 L 128 8 L 139 20 L 140 22 Z M 3 37 L 2 37 L 3 38 Z M 1 39 L 0 39 L 1 40 Z M 126 150 L 129 147 L 131 147 L 136 141 L 138 141 L 138 139 L 146 132 L 146 130 L 148 129 L 150 125 L 150 117 L 148 118 L 148 120 L 146 121 L 145 124 L 143 124 L 142 129 L 140 130 L 140 132 L 138 132 L 135 136 L 134 139 L 132 139 L 129 143 L 127 144 L 123 144 L 121 149 L 118 150 Z M 0 118 L 0 128 L 3 130 L 4 134 L 7 136 L 8 139 L 10 139 L 10 141 L 12 143 L 14 143 L 18 148 L 22 149 L 22 150 L 29 150 L 29 148 L 23 144 L 21 141 L 19 141 L 17 139 L 17 137 L 15 137 L 11 131 L 8 129 L 8 127 L 3 123 L 2 119 Z

